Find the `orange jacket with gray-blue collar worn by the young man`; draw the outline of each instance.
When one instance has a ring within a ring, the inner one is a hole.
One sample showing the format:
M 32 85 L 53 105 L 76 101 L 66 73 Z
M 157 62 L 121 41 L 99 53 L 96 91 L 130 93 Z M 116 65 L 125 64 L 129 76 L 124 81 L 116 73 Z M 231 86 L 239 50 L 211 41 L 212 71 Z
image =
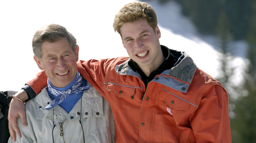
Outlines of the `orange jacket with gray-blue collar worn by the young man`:
M 78 61 L 78 71 L 111 105 L 116 142 L 231 142 L 226 90 L 184 54 L 147 90 L 127 57 Z M 40 72 L 27 84 L 38 93 L 46 79 Z

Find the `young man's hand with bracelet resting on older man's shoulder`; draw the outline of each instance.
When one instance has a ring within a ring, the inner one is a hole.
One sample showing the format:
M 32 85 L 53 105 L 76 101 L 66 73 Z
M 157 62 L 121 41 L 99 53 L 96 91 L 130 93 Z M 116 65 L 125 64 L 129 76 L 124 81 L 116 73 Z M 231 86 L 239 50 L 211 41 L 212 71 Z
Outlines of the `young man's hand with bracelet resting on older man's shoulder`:
M 16 93 L 14 96 L 21 100 L 27 100 L 28 95 L 25 90 L 21 90 L 20 92 Z M 20 102 L 18 99 L 13 98 L 10 103 L 9 113 L 8 113 L 8 125 L 9 125 L 9 132 L 11 135 L 11 139 L 16 141 L 15 132 L 21 138 L 20 130 L 17 126 L 17 118 L 20 117 L 23 126 L 27 126 L 27 120 L 25 115 L 25 105 L 23 102 Z

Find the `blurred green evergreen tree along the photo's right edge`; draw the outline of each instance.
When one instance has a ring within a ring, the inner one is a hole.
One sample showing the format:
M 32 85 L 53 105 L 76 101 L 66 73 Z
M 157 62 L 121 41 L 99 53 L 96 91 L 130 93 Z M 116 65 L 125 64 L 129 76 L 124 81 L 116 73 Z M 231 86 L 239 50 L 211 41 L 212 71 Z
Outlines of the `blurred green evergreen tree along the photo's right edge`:
M 235 102 L 235 117 L 230 119 L 233 143 L 256 142 L 256 1 L 251 4 L 253 14 L 250 17 L 247 43 L 247 58 L 250 62 L 245 75 L 244 89 Z

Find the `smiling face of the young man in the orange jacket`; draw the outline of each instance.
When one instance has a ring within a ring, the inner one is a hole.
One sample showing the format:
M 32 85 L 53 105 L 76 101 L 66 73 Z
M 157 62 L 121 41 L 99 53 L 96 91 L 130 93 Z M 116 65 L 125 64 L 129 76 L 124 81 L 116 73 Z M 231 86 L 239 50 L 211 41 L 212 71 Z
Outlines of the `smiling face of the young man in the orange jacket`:
M 153 29 L 145 19 L 124 23 L 120 32 L 123 46 L 139 68 L 156 70 L 163 62 L 158 26 Z

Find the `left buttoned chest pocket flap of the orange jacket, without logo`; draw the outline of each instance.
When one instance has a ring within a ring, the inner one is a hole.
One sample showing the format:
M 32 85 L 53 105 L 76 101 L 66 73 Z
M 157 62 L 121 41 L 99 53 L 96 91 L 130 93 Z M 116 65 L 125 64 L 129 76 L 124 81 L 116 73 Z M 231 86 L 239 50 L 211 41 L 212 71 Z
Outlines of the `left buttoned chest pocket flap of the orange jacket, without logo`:
M 134 95 L 136 88 L 123 85 L 108 84 L 106 89 L 117 97 L 122 98 Z

